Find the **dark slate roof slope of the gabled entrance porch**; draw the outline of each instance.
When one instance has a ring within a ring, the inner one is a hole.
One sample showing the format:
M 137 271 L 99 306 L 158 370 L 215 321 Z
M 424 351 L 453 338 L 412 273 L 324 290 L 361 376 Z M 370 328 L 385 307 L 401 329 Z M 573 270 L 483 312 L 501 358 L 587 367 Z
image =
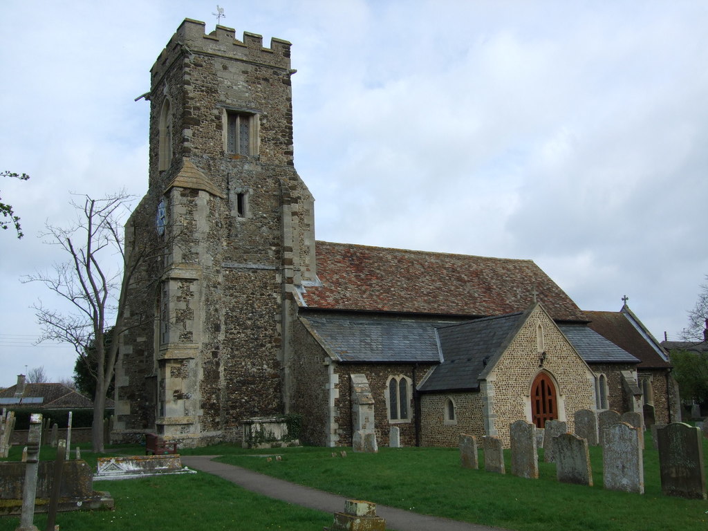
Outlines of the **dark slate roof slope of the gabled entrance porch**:
M 421 385 L 421 392 L 479 390 L 479 375 L 523 322 L 517 312 L 438 328 L 445 361 Z

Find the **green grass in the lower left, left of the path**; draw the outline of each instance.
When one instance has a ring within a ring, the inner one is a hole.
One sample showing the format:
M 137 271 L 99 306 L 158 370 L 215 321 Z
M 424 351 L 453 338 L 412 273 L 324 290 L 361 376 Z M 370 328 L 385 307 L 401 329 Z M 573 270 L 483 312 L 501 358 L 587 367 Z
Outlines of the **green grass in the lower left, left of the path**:
M 144 454 L 144 447 L 135 447 L 134 452 L 125 452 L 130 449 L 124 446 L 115 450 L 124 455 Z M 81 452 L 81 458 L 95 468 L 96 456 L 88 447 Z M 8 460 L 20 459 L 21 453 L 21 447 L 13 447 Z M 40 452 L 42 460 L 55 455 L 56 450 L 50 447 L 42 447 Z M 331 514 L 275 501 L 210 474 L 96 481 L 93 488 L 110 492 L 115 511 L 59 513 L 57 524 L 62 530 L 312 531 L 332 523 Z M 46 515 L 35 515 L 34 523 L 40 530 L 45 529 L 46 521 Z M 19 523 L 19 516 L 1 517 L 0 531 L 14 531 Z

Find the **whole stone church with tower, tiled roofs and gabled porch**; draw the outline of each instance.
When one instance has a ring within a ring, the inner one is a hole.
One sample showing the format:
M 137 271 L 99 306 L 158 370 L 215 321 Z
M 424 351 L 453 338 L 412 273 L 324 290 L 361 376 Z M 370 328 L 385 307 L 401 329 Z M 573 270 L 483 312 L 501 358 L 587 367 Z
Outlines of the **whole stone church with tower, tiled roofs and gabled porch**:
M 403 445 L 508 444 L 520 418 L 678 418 L 666 352 L 626 304 L 639 338 L 622 344 L 624 321 L 583 312 L 533 261 L 316 241 L 293 74 L 290 42 L 190 19 L 152 67 L 115 438 L 239 442 L 297 413 L 314 445 L 385 445 L 392 426 Z

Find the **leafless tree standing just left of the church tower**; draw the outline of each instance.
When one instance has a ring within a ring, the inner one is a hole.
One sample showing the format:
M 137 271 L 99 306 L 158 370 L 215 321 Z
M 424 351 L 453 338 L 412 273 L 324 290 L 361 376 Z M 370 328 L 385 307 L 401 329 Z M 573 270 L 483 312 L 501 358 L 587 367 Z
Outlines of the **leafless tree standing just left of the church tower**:
M 64 341 L 85 357 L 93 350 L 94 452 L 103 452 L 103 411 L 106 390 L 114 375 L 118 356 L 118 337 L 126 329 L 125 299 L 127 287 L 135 280 L 137 265 L 149 254 L 132 237 L 130 249 L 124 248 L 122 222 L 130 212 L 133 196 L 120 192 L 102 199 L 83 196 L 72 201 L 76 222 L 69 227 L 46 225 L 43 234 L 48 244 L 59 246 L 68 254 L 64 263 L 55 264 L 51 273 L 36 273 L 25 277 L 26 282 L 42 282 L 55 295 L 68 301 L 71 312 L 35 305 L 42 326 L 42 341 Z M 113 327 L 116 341 L 105 341 Z

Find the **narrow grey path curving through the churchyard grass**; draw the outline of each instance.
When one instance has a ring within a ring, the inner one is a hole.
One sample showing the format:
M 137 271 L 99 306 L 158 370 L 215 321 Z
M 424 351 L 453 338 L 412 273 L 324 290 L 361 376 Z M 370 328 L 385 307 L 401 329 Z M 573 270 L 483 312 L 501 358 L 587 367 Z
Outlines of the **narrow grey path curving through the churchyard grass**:
M 309 487 L 275 479 L 252 472 L 232 464 L 212 461 L 214 455 L 183 455 L 182 464 L 222 477 L 244 489 L 263 494 L 270 498 L 287 501 L 295 505 L 321 510 L 324 513 L 341 513 L 344 510 L 342 496 L 329 492 L 310 489 Z M 375 500 L 370 500 L 376 502 Z M 376 506 L 377 515 L 386 519 L 386 528 L 396 531 L 503 531 L 500 527 L 476 525 L 448 518 L 419 515 L 407 510 L 389 506 Z

